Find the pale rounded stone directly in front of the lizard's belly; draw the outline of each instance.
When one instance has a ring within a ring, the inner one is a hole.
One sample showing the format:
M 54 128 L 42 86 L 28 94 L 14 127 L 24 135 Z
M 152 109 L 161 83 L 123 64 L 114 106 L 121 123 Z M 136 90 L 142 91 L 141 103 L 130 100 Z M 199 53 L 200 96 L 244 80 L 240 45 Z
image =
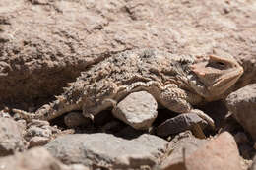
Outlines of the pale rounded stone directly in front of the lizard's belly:
M 148 129 L 158 116 L 158 103 L 146 91 L 134 92 L 112 110 L 115 117 L 135 129 Z

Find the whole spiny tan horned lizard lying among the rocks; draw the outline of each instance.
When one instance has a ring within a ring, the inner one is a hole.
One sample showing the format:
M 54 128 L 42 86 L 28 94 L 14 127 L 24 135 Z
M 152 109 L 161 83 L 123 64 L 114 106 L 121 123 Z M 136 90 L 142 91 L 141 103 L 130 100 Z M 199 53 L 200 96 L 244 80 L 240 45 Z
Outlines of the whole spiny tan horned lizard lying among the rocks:
M 56 100 L 35 114 L 13 109 L 27 120 L 51 120 L 73 110 L 85 117 L 97 113 L 128 94 L 146 90 L 164 107 L 177 113 L 193 111 L 192 105 L 220 99 L 242 75 L 233 59 L 214 55 L 175 55 L 156 49 L 128 50 L 93 65 Z M 209 124 L 213 120 L 196 112 Z

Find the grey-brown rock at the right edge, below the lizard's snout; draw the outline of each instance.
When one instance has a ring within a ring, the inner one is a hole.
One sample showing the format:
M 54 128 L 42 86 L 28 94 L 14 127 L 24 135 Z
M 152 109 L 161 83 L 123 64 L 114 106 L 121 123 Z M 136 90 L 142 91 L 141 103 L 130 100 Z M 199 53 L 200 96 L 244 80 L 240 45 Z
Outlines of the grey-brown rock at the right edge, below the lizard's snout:
M 247 85 L 229 94 L 226 106 L 234 118 L 256 140 L 256 84 Z

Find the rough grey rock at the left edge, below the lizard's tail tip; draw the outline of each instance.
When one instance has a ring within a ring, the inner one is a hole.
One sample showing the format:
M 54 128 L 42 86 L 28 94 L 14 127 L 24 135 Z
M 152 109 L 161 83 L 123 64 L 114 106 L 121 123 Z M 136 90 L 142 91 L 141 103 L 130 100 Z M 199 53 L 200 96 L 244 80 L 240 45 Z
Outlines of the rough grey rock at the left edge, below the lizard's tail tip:
M 0 156 L 23 151 L 26 146 L 22 127 L 10 118 L 0 118 Z

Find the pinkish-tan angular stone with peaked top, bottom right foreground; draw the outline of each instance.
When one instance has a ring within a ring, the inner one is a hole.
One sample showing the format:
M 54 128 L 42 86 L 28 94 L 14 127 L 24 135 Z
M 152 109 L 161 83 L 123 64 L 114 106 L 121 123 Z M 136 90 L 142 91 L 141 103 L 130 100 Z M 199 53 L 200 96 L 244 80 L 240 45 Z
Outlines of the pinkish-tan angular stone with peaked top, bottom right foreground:
M 241 170 L 240 156 L 233 137 L 224 132 L 202 144 L 182 148 L 170 154 L 161 165 L 162 170 Z M 175 150 L 174 150 L 175 151 Z M 173 152 L 174 152 L 173 151 Z M 178 156 L 177 156 L 178 155 Z

